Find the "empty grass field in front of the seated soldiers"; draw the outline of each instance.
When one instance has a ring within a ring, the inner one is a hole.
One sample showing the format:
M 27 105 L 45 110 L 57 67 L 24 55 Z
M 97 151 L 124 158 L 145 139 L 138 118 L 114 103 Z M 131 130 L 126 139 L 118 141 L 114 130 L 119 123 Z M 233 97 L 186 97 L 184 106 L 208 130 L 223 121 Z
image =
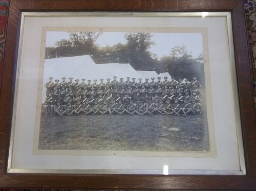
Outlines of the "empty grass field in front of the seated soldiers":
M 205 117 L 42 115 L 38 149 L 208 151 Z

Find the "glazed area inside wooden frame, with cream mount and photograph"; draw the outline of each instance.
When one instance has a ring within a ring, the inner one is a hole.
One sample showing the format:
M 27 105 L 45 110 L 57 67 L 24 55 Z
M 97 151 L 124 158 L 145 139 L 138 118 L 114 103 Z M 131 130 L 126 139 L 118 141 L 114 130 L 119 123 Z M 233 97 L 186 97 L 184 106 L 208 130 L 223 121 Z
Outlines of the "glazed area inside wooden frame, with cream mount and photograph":
M 34 14 L 9 172 L 245 173 L 230 13 Z

